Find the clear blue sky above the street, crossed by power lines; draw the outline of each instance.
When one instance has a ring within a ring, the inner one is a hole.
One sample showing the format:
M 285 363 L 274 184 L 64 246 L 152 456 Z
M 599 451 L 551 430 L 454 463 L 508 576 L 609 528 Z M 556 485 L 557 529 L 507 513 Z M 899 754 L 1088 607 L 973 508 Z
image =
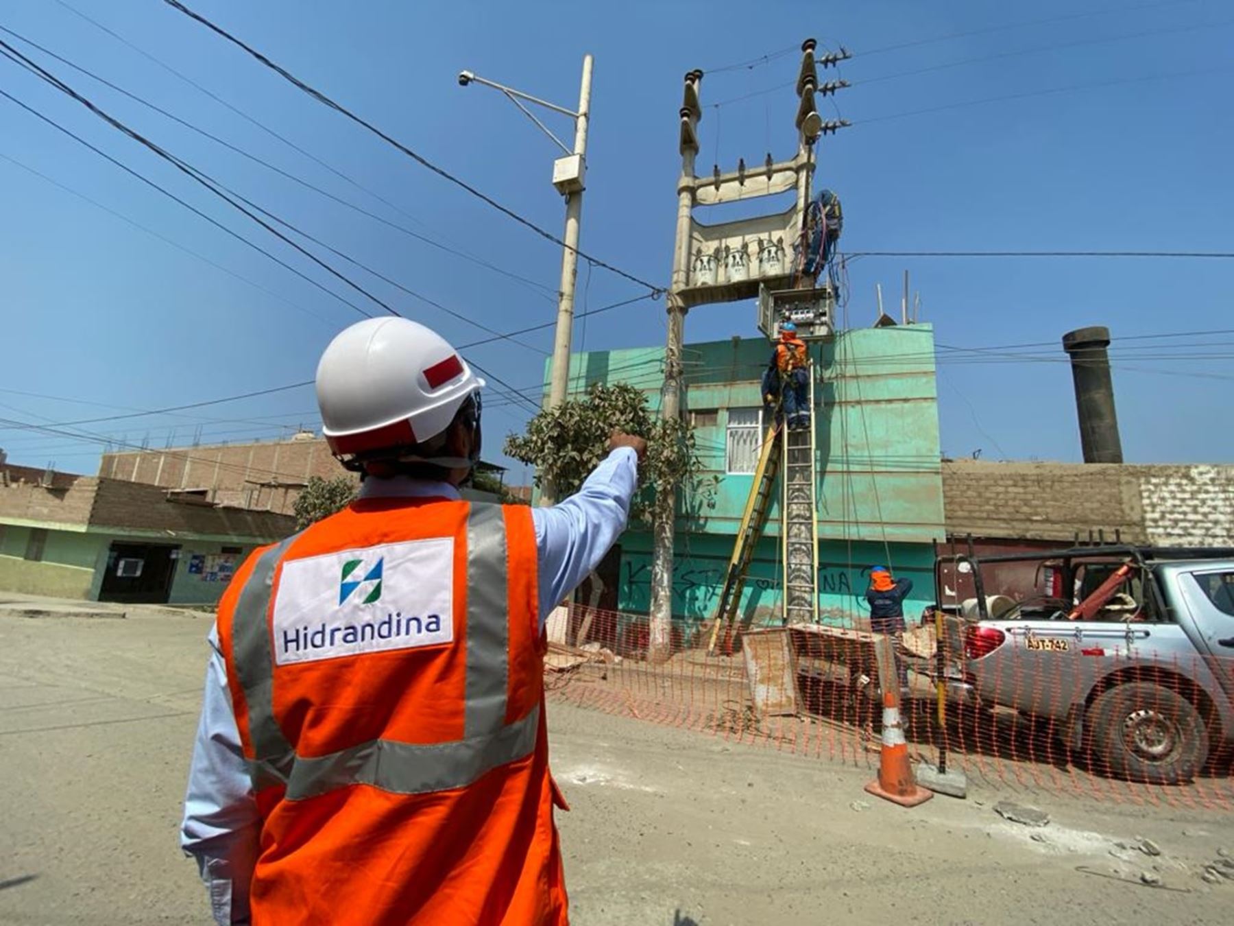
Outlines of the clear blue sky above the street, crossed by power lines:
M 557 246 L 313 102 L 159 0 L 67 1 L 379 191 L 404 215 L 54 0 L 5 4 L 0 25 L 337 196 L 448 240 L 545 289 L 513 283 L 360 216 L 4 38 L 175 154 L 405 286 L 500 331 L 554 317 L 548 291 L 558 282 Z M 854 53 L 843 68 L 854 86 L 837 104 L 854 125 L 824 140 L 817 174 L 817 183 L 843 200 L 844 251 L 1234 249 L 1234 10 L 1220 0 L 1085 0 L 1079 6 L 1048 0 L 1028 7 L 979 0 L 190 5 L 554 232 L 563 207 L 549 185 L 552 143 L 499 94 L 460 89 L 455 75 L 468 68 L 573 106 L 582 54 L 591 52 L 596 67 L 582 248 L 656 283 L 668 280 L 670 267 L 682 73 L 696 67 L 713 72 L 702 84 L 707 109 L 700 172 L 710 170 L 717 157 L 724 169 L 740 156 L 761 162 L 769 147 L 777 158 L 789 157 L 795 143 L 791 88 L 718 110 L 711 105 L 791 81 L 797 54 L 749 69 L 716 69 L 795 47 L 807 36 L 828 47 L 843 43 Z M 1093 15 L 1076 15 L 1088 11 Z M 1167 77 L 1141 79 L 1161 75 Z M 6 59 L 0 59 L 0 88 L 344 291 Z M 1066 89 L 1021 96 L 1054 88 Z M 1019 99 L 956 105 L 1003 96 Z M 932 107 L 943 109 L 919 112 Z M 835 110 L 826 104 L 828 114 Z M 569 125 L 553 126 L 569 136 Z M 6 219 L 0 225 L 0 389 L 9 390 L 0 391 L 0 417 L 77 421 L 311 379 L 331 336 L 360 317 L 2 98 L 0 154 Z M 1234 328 L 1232 261 L 870 257 L 850 267 L 854 323 L 874 320 L 875 283 L 884 284 L 888 300 L 898 300 L 906 267 L 942 344 L 1049 342 L 1027 348 L 1035 352 L 1027 358 L 940 351 L 943 449 L 953 456 L 981 448 L 987 458 L 1079 459 L 1070 373 L 1054 347 L 1072 327 L 1108 325 L 1123 337 Z M 348 273 L 455 343 L 486 336 L 362 270 Z M 639 294 L 600 269 L 590 285 L 580 269 L 579 284 L 580 310 Z M 348 298 L 379 311 L 363 296 Z M 575 349 L 663 343 L 663 306 L 642 302 L 591 317 L 585 327 L 579 321 Z M 687 341 L 755 333 L 749 304 L 698 309 L 686 325 Z M 547 352 L 552 331 L 520 340 Z M 1129 462 L 1234 459 L 1232 347 L 1234 332 L 1116 341 L 1114 379 Z M 497 342 L 469 356 L 536 395 L 543 369 L 537 349 Z M 81 427 L 131 442 L 148 437 L 160 447 L 169 438 L 186 442 L 199 426 L 202 441 L 211 441 L 316 423 L 311 389 L 193 415 Z M 492 398 L 485 422 L 489 456 L 526 419 L 518 406 Z M 62 469 L 88 473 L 100 449 L 12 428 L 0 428 L 0 447 L 14 462 L 56 461 Z

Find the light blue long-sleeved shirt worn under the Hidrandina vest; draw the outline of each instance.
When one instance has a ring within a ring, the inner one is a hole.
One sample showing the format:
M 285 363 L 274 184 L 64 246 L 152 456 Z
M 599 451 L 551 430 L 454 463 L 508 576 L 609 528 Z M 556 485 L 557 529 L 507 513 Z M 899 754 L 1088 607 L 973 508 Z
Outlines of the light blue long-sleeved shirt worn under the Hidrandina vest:
M 540 627 L 549 611 L 600 564 L 626 530 L 637 477 L 634 451 L 623 447 L 596 467 L 578 494 L 553 507 L 532 509 L 539 557 Z M 453 485 L 413 479 L 369 479 L 360 495 L 459 498 Z M 244 767 L 227 688 L 227 665 L 215 627 L 209 640 L 213 652 L 206 668 L 180 846 L 197 861 L 210 891 L 215 922 L 230 926 L 249 922 L 248 885 L 257 862 L 262 821 Z

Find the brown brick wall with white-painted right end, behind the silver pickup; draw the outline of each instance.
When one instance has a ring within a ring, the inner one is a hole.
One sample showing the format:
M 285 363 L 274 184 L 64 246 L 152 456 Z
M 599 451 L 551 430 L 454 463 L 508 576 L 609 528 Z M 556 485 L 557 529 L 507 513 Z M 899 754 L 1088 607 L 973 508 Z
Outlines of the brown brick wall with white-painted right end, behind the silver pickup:
M 1234 467 L 1104 463 L 943 464 L 950 533 L 1234 546 Z

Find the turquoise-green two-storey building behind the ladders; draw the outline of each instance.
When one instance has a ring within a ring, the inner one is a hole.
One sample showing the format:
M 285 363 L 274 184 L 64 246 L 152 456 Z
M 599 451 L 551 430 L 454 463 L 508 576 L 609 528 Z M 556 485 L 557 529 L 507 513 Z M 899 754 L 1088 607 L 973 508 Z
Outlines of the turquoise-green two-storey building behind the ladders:
M 875 563 L 890 563 L 897 575 L 913 580 L 906 603 L 913 617 L 933 601 L 932 542 L 944 536 L 933 328 L 850 330 L 812 343 L 811 353 L 821 377 L 814 415 L 821 619 L 850 624 L 868 614 L 868 570 Z M 679 620 L 697 622 L 714 614 L 769 423 L 759 380 L 770 354 L 765 338 L 685 348 L 681 406 L 707 475 L 719 482 L 710 500 L 680 500 L 673 585 Z M 579 353 L 570 372 L 575 395 L 596 382 L 629 383 L 658 409 L 664 349 Z M 779 525 L 776 501 L 743 595 L 742 614 L 755 625 L 779 621 Z M 602 579 L 610 606 L 648 612 L 649 527 L 631 526 Z

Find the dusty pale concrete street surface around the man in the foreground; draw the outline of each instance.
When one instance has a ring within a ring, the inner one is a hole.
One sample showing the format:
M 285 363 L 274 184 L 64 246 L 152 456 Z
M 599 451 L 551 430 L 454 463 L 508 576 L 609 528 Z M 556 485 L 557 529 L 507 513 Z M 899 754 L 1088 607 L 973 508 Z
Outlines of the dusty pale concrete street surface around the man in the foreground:
M 176 847 L 207 619 L 128 615 L 0 617 L 0 924 L 209 922 Z M 902 810 L 865 795 L 861 770 L 565 705 L 549 717 L 579 926 L 1217 924 L 1234 909 L 1234 880 L 1202 879 L 1234 854 L 1234 814 L 980 790 Z M 1051 822 L 1002 820 L 1008 798 Z

